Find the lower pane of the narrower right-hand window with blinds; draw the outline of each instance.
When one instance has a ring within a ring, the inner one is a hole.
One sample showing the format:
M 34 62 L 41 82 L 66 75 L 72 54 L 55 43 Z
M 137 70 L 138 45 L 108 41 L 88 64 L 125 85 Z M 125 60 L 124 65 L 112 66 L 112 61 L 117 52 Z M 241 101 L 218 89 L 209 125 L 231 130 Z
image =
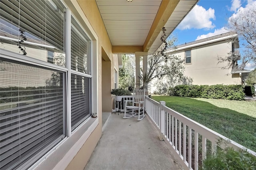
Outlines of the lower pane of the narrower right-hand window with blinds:
M 91 115 L 91 79 L 71 74 L 71 128 L 74 130 Z

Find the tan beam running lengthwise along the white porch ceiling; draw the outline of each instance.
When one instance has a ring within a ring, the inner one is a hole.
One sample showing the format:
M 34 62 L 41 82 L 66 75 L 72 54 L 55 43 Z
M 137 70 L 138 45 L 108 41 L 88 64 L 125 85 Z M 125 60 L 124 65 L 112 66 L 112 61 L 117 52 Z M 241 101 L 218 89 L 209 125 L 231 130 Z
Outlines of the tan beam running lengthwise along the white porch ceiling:
M 144 52 L 148 52 L 179 2 L 180 0 L 162 0 L 156 14 L 156 18 L 154 19 L 154 22 L 148 32 L 148 36 L 144 42 Z

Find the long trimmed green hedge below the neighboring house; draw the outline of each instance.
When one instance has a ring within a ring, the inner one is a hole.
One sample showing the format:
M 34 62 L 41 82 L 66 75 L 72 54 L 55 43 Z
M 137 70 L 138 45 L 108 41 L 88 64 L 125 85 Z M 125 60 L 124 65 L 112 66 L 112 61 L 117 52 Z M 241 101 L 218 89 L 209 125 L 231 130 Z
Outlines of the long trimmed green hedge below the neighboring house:
M 169 95 L 244 100 L 244 89 L 242 85 L 177 85 L 174 88 L 169 88 Z

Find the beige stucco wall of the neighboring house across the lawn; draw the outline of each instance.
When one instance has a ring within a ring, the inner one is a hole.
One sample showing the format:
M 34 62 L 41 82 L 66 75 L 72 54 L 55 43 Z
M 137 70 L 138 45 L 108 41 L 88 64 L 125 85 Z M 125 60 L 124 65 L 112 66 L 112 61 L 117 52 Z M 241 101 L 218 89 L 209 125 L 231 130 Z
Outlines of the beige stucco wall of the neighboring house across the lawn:
M 231 69 L 224 69 L 228 63 L 219 63 L 218 56 L 228 56 L 232 51 L 232 41 L 222 40 L 194 47 L 179 48 L 174 55 L 185 61 L 185 51 L 191 50 L 191 63 L 184 64 L 184 75 L 192 78 L 194 85 L 241 84 L 240 77 L 232 77 Z

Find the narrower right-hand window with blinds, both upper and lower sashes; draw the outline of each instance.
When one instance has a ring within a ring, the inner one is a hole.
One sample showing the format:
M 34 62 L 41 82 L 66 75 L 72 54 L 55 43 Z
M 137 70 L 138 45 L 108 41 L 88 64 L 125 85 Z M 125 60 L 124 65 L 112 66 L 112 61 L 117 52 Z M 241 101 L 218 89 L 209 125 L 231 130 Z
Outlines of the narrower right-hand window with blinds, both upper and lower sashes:
M 71 17 L 71 129 L 91 115 L 90 40 Z

